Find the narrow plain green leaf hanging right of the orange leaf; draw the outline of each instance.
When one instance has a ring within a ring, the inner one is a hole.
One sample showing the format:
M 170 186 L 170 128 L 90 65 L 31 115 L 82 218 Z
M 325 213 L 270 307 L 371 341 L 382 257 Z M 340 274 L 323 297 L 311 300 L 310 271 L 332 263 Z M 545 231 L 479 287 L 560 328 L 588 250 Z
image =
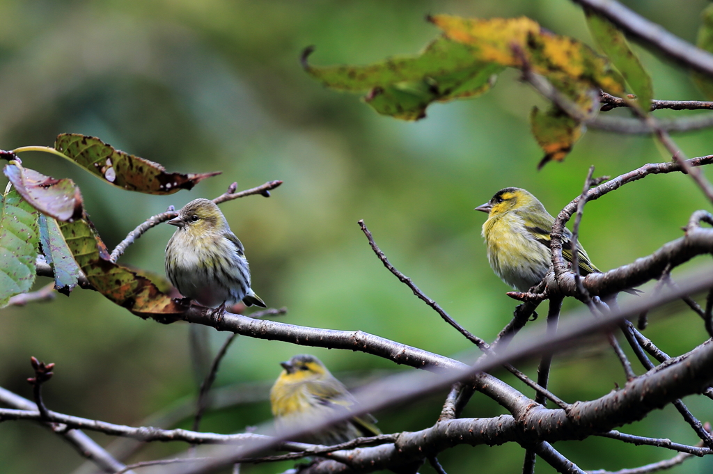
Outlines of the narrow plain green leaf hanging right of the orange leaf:
M 631 51 L 624 34 L 611 21 L 586 10 L 587 24 L 594 40 L 619 69 L 633 93 L 637 96 L 640 110 L 647 114 L 654 97 L 651 77 L 639 57 Z

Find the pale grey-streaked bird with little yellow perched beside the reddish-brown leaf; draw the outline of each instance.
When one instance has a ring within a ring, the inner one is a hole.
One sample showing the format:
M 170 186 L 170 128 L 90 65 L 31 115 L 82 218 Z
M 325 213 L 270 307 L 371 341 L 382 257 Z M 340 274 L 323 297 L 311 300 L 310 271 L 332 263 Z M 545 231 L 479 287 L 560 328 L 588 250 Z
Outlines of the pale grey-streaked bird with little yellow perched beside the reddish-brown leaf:
M 184 297 L 221 313 L 240 300 L 265 308 L 250 288 L 245 249 L 215 202 L 193 200 L 166 223 L 178 227 L 166 245 L 166 276 Z

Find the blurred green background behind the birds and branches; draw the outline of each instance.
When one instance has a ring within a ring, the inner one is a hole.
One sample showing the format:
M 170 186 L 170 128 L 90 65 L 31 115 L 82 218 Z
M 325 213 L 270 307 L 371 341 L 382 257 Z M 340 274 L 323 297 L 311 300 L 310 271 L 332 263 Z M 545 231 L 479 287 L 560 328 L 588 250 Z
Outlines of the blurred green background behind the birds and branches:
M 627 4 L 695 41 L 699 12 L 707 2 Z M 555 214 L 580 193 L 592 164 L 595 175 L 615 176 L 668 158 L 651 138 L 590 130 L 565 163 L 537 172 L 542 153 L 527 118 L 533 105 L 545 103 L 515 71 L 503 73 L 481 98 L 432 105 L 426 119 L 405 123 L 376 115 L 357 96 L 325 90 L 299 68 L 299 53 L 310 44 L 317 46 L 315 64 L 368 63 L 416 53 L 437 34 L 424 21 L 434 13 L 526 15 L 591 43 L 582 12 L 565 0 L 0 0 L 0 148 L 51 145 L 58 133 L 84 133 L 168 170 L 222 170 L 190 192 L 156 197 L 110 187 L 51 155 L 24 154 L 27 166 L 78 182 L 110 248 L 168 205 L 215 197 L 235 180 L 240 189 L 284 180 L 270 199 L 253 196 L 222 205 L 247 249 L 253 288 L 270 306 L 289 309 L 280 321 L 361 329 L 457 355 L 471 349 L 466 339 L 384 269 L 357 220 L 366 221 L 391 262 L 426 294 L 470 331 L 491 340 L 509 321 L 515 302 L 488 267 L 480 235 L 486 216 L 473 207 L 502 187 L 519 186 Z M 702 99 L 687 71 L 636 50 L 652 73 L 656 98 Z M 691 157 L 713 153 L 711 130 L 676 138 Z M 680 237 L 680 227 L 701 208 L 709 205 L 689 177 L 648 177 L 590 203 L 580 239 L 597 266 L 610 269 Z M 172 232 L 170 226 L 151 230 L 121 261 L 163 273 L 163 249 Z M 48 282 L 42 280 L 39 284 Z M 697 316 L 681 309 L 662 311 L 675 314 L 653 321 L 645 333 L 669 354 L 706 339 Z M 225 336 L 210 332 L 214 351 Z M 366 354 L 240 337 L 216 386 L 262 381 L 257 390 L 262 401 L 209 413 L 202 429 L 230 433 L 269 421 L 265 399 L 278 362 L 303 352 L 352 380 L 371 371 L 402 369 Z M 57 364 L 55 378 L 45 387 L 48 406 L 77 416 L 138 425 L 197 391 L 187 324 L 142 321 L 81 289 L 49 304 L 0 311 L 0 385 L 29 398 L 30 356 Z M 534 376 L 535 366 L 523 369 Z M 496 375 L 532 395 L 510 376 Z M 551 387 L 565 401 L 601 396 L 615 383 L 624 378 L 605 346 L 555 357 Z M 442 399 L 425 398 L 376 416 L 385 432 L 425 428 L 438 417 Z M 709 400 L 689 403 L 700 419 L 713 418 Z M 466 416 L 502 412 L 476 394 Z M 671 407 L 622 431 L 697 442 Z M 103 445 L 111 442 L 90 434 Z M 61 438 L 31 423 L 0 423 L 0 440 L 2 473 L 70 473 L 83 463 Z M 555 447 L 584 469 L 633 467 L 674 455 L 603 438 Z M 130 460 L 185 448 L 155 444 Z M 476 467 L 506 473 L 520 471 L 522 454 L 512 444 L 459 446 L 439 458 L 449 474 Z M 289 467 L 243 469 L 267 474 Z M 713 460 L 694 458 L 670 472 L 712 468 Z M 430 466 L 421 470 L 432 472 Z M 540 460 L 537 472 L 553 470 Z

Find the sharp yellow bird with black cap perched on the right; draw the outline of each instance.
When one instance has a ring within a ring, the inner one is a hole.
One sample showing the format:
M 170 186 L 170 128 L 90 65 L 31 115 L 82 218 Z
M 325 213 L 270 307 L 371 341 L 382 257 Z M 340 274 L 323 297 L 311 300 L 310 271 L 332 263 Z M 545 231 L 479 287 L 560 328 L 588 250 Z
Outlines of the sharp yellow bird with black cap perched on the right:
M 519 292 L 538 284 L 552 265 L 550 232 L 555 218 L 542 202 L 519 187 L 506 187 L 491 200 L 476 207 L 488 213 L 483 224 L 483 237 L 488 246 L 488 262 L 493 272 Z M 565 228 L 562 255 L 572 262 L 572 232 Z M 577 242 L 580 275 L 601 273 Z M 635 290 L 632 290 L 635 291 Z

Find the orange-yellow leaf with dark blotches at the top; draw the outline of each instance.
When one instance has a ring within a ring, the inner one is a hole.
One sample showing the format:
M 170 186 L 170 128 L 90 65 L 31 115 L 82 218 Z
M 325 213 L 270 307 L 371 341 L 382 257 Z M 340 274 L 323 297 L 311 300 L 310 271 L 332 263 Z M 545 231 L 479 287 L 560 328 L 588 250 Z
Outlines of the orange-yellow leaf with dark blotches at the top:
M 547 78 L 565 74 L 608 93 L 624 92 L 624 81 L 607 58 L 581 41 L 541 29 L 524 16 L 481 20 L 438 15 L 430 20 L 451 40 L 470 46 L 476 61 L 514 68 L 522 68 L 527 61 L 535 73 Z

